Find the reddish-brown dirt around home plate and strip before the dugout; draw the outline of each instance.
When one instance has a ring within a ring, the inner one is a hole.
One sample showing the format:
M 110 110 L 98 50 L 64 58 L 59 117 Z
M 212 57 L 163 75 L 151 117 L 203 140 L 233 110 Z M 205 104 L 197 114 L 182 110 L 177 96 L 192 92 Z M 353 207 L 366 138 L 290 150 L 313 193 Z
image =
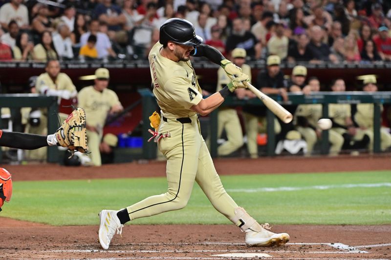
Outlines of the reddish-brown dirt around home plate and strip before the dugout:
M 219 159 L 215 163 L 221 175 L 391 169 L 389 157 Z M 165 172 L 164 162 L 74 171 L 53 164 L 2 167 L 15 181 L 163 177 Z M 98 225 L 55 227 L 0 217 L 0 259 L 391 259 L 391 225 L 278 225 L 272 231 L 291 235 L 281 248 L 246 247 L 244 234 L 234 225 L 127 225 L 122 238 L 114 236 L 109 250 L 102 250 L 97 230 Z

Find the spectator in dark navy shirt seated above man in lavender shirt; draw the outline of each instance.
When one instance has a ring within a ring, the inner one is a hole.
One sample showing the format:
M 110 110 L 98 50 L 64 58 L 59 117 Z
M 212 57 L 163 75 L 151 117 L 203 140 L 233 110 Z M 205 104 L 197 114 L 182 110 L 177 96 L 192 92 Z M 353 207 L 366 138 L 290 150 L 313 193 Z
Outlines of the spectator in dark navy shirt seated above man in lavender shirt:
M 112 34 L 111 32 L 121 30 L 127 22 L 121 8 L 113 4 L 111 0 L 103 0 L 102 3 L 98 4 L 94 9 L 94 16 L 99 21 L 104 21 L 109 25 L 109 35 Z

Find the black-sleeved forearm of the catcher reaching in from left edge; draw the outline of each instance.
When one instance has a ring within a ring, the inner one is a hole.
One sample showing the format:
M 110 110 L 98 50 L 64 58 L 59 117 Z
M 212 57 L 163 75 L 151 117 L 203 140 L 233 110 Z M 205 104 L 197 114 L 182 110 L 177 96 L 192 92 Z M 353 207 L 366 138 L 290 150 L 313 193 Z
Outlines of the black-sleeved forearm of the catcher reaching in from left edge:
M 48 146 L 46 139 L 47 136 L 3 131 L 0 138 L 0 146 L 33 150 Z

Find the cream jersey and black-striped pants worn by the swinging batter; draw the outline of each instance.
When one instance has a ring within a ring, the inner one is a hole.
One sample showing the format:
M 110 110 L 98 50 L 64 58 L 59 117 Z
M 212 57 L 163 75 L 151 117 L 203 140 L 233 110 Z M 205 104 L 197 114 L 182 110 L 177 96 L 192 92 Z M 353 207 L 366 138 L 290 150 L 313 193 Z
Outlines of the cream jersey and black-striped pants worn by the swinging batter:
M 127 207 L 130 220 L 183 208 L 190 199 L 194 181 L 213 206 L 232 219 L 238 205 L 221 184 L 201 136 L 197 114 L 191 109 L 202 99 L 195 71 L 190 61 L 175 62 L 163 57 L 161 48 L 159 42 L 152 47 L 149 61 L 153 94 L 162 115 L 158 132 L 170 133 L 170 137 L 158 142 L 167 158 L 168 191 Z

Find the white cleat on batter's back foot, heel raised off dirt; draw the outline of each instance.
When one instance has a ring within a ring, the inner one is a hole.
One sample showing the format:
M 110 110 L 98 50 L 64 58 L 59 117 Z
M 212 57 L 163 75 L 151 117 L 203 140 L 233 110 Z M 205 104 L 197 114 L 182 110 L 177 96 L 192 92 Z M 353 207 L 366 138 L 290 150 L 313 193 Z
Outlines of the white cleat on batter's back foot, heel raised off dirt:
M 109 249 L 110 241 L 115 235 L 115 231 L 117 231 L 117 234 L 122 234 L 124 225 L 119 221 L 117 212 L 116 210 L 102 210 L 98 214 L 101 220 L 98 236 L 103 249 Z

